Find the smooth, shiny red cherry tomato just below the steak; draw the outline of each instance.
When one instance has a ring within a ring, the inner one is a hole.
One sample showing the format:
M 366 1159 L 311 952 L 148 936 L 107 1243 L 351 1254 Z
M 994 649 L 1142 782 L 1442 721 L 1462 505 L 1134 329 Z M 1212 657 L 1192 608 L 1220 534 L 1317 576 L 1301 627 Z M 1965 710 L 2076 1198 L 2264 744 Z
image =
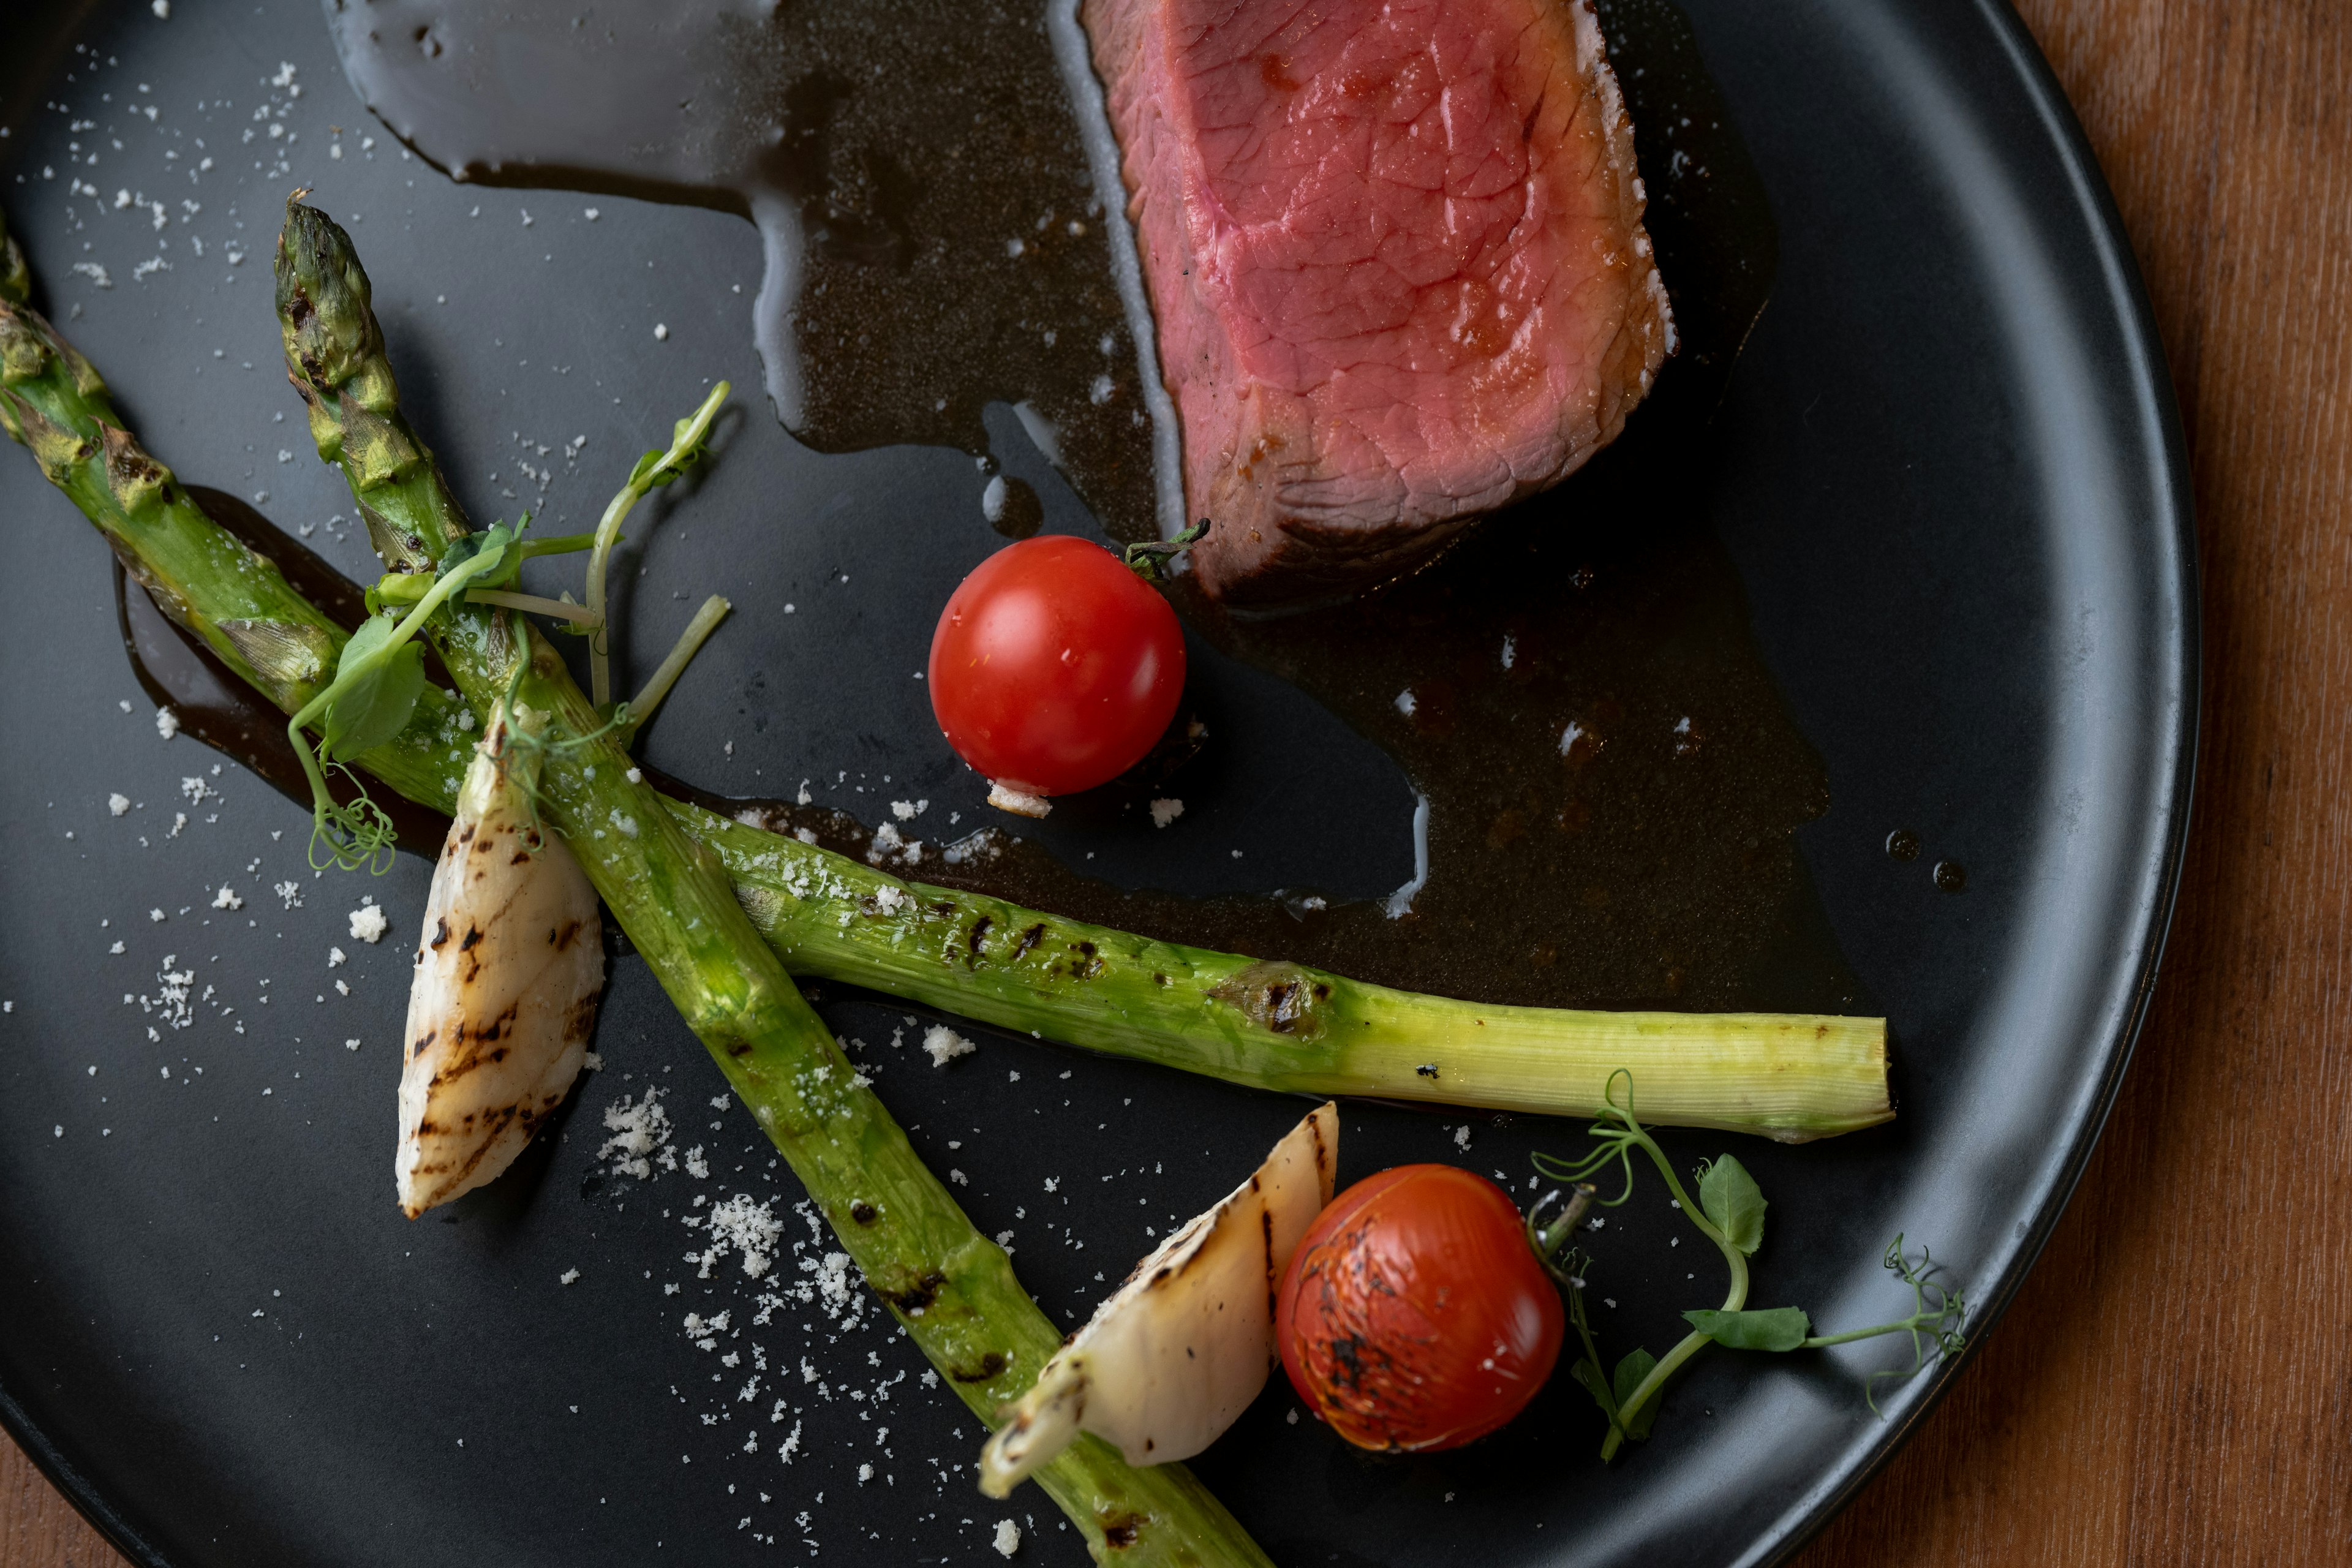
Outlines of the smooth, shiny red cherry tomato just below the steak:
M 1117 555 L 1040 534 L 948 599 L 929 684 L 957 757 L 1023 795 L 1070 795 L 1131 769 L 1176 717 L 1183 630 Z

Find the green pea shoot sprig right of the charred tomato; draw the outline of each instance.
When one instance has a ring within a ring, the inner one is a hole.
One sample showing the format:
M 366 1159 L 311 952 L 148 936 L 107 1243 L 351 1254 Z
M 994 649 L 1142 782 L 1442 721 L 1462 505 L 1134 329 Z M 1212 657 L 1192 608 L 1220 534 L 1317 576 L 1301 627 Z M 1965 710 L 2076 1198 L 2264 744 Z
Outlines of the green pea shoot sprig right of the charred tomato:
M 1625 1079 L 1625 1098 L 1618 1100 L 1618 1079 Z M 1919 1248 L 1919 1260 L 1912 1262 L 1903 1251 L 1903 1237 L 1898 1234 L 1889 1246 L 1882 1265 L 1912 1291 L 1912 1312 L 1891 1324 L 1872 1324 L 1870 1328 L 1851 1328 L 1846 1333 L 1816 1335 L 1813 1324 L 1802 1307 L 1748 1307 L 1748 1258 L 1764 1244 L 1764 1192 L 1757 1187 L 1755 1178 L 1738 1159 L 1724 1154 L 1710 1164 L 1698 1166 L 1698 1204 L 1691 1204 L 1691 1194 L 1684 1190 L 1682 1178 L 1675 1173 L 1672 1161 L 1665 1150 L 1658 1147 L 1642 1124 L 1632 1114 L 1632 1074 L 1616 1072 L 1609 1077 L 1604 1091 L 1606 1107 L 1602 1119 L 1588 1131 L 1597 1138 L 1597 1147 L 1578 1161 L 1564 1161 L 1552 1154 L 1536 1154 L 1534 1164 L 1541 1175 L 1564 1182 L 1583 1182 L 1588 1175 L 1606 1171 L 1616 1164 L 1625 1173 L 1625 1187 L 1613 1199 L 1595 1199 L 1604 1208 L 1616 1208 L 1632 1197 L 1632 1154 L 1635 1150 L 1649 1154 L 1651 1164 L 1658 1166 L 1658 1175 L 1665 1178 L 1668 1192 L 1675 1197 L 1675 1206 L 1698 1227 L 1698 1232 L 1717 1246 L 1724 1255 L 1724 1267 L 1729 1269 L 1729 1288 L 1724 1291 L 1722 1307 L 1700 1307 L 1684 1312 L 1684 1321 L 1691 1326 L 1675 1349 L 1665 1352 L 1665 1359 L 1653 1359 L 1646 1349 L 1635 1349 L 1616 1363 L 1611 1375 L 1602 1375 L 1602 1354 L 1595 1345 L 1592 1328 L 1585 1319 L 1583 1305 L 1583 1269 L 1585 1258 L 1581 1253 L 1569 1253 L 1555 1269 L 1564 1274 L 1569 1286 L 1569 1319 L 1576 1326 L 1578 1340 L 1583 1345 L 1583 1359 L 1571 1368 L 1571 1375 L 1585 1385 L 1595 1403 L 1599 1403 L 1602 1415 L 1609 1418 L 1609 1436 L 1602 1439 L 1602 1460 L 1613 1460 L 1625 1439 L 1649 1436 L 1649 1427 L 1656 1420 L 1658 1392 L 1675 1371 L 1698 1354 L 1705 1345 L 1722 1345 L 1726 1349 L 1766 1349 L 1766 1352 L 1790 1352 L 1790 1349 L 1825 1349 L 1830 1345 L 1851 1345 L 1853 1340 L 1870 1340 L 1886 1333 L 1907 1333 L 1912 1340 L 1912 1363 L 1907 1368 L 1879 1368 L 1870 1373 L 1863 1382 L 1863 1399 L 1870 1410 L 1877 1413 L 1877 1382 L 1879 1378 L 1912 1378 L 1926 1368 L 1929 1349 L 1938 1356 L 1950 1356 L 1964 1345 L 1962 1326 L 1966 1324 L 1969 1302 L 1959 1291 L 1950 1291 L 1933 1274 L 1933 1258 L 1926 1248 Z M 1578 1187 L 1578 1197 L 1590 1194 L 1590 1187 Z M 1545 1232 L 1557 1232 L 1559 1222 Z M 1529 1237 L 1536 1239 L 1536 1215 L 1529 1215 Z M 1555 1241 L 1557 1244 L 1557 1241 Z M 1538 1253 L 1550 1255 L 1543 1244 Z

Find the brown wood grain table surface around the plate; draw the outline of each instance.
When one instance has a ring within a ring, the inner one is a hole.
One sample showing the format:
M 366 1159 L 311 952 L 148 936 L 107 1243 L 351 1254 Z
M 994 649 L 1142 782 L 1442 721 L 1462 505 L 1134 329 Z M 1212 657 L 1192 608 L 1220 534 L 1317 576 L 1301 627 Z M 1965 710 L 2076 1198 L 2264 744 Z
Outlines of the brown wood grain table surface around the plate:
M 2180 393 L 2197 818 L 2157 1006 L 2065 1222 L 1799 1563 L 2352 1563 L 2352 2 L 2020 12 Z M 118 1561 L 0 1439 L 0 1568 Z

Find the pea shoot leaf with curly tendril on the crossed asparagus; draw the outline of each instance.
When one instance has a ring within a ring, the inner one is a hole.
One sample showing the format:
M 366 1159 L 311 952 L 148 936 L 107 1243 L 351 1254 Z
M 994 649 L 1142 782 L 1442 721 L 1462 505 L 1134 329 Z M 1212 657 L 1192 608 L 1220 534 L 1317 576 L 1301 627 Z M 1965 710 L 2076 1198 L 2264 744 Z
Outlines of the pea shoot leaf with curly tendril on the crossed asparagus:
M 508 564 L 513 545 L 515 536 L 506 524 L 454 541 L 445 569 L 416 597 L 409 614 L 395 621 L 386 611 L 360 623 L 343 644 L 327 689 L 287 719 L 287 741 L 294 743 L 294 755 L 310 780 L 313 870 L 329 865 L 341 870 L 365 865 L 376 875 L 390 870 L 393 818 L 367 797 L 367 788 L 343 764 L 407 726 L 426 689 L 426 656 L 416 632 L 452 595 Z M 313 722 L 322 731 L 315 750 L 303 733 Z M 360 790 L 350 804 L 339 804 L 327 790 L 327 769 L 343 773 Z

